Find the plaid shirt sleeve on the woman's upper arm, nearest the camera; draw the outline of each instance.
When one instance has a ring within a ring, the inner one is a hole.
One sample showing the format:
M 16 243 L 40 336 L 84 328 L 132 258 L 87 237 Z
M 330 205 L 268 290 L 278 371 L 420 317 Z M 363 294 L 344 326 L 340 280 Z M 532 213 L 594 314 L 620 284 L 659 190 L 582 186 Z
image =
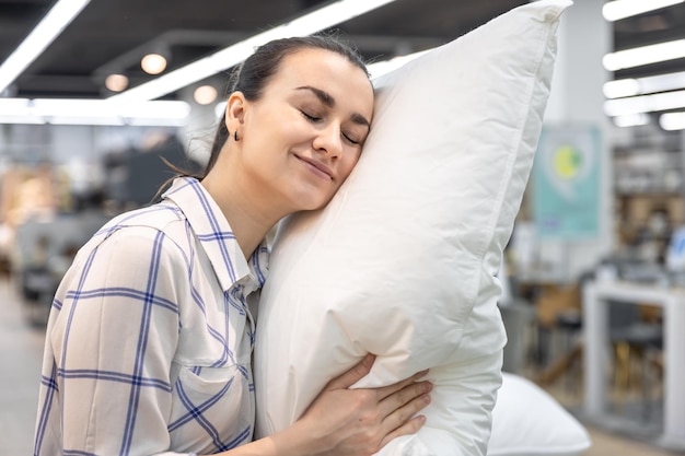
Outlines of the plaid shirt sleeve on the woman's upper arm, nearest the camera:
M 126 227 L 80 255 L 65 277 L 62 307 L 48 335 L 61 453 L 171 454 L 171 373 L 185 268 L 162 232 Z

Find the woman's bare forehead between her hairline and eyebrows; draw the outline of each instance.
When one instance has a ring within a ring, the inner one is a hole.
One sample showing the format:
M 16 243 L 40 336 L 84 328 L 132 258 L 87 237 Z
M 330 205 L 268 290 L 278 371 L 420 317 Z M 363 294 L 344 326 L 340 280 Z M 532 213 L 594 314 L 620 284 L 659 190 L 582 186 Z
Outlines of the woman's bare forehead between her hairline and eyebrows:
M 336 103 L 350 102 L 355 110 L 370 116 L 373 87 L 367 73 L 347 57 L 325 49 L 305 48 L 287 55 L 267 86 L 285 93 L 302 86 L 327 92 Z

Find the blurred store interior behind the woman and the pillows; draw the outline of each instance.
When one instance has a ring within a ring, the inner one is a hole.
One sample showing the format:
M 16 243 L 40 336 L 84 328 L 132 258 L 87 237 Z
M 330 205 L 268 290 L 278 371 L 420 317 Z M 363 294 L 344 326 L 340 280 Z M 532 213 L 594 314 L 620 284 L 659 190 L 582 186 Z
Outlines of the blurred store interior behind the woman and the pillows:
M 0 0 L 0 455 L 32 451 L 73 255 L 154 201 L 162 159 L 206 163 L 255 45 L 339 28 L 379 75 L 524 3 Z M 576 0 L 500 306 L 504 369 L 588 426 L 588 455 L 685 454 L 684 109 L 683 0 Z

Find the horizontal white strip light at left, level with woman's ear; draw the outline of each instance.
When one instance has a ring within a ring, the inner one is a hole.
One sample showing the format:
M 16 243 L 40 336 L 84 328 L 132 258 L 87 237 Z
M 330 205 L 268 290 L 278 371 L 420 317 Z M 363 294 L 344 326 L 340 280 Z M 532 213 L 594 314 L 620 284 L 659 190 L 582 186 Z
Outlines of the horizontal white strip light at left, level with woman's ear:
M 186 102 L 115 103 L 107 100 L 0 98 L 0 124 L 139 125 L 181 127 Z

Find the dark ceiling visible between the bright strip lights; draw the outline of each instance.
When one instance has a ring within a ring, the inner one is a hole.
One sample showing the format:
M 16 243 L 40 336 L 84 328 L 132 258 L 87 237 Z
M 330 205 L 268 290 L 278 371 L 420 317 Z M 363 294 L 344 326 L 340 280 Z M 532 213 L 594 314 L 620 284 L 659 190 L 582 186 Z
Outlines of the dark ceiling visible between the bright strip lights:
M 578 0 L 588 1 L 588 0 Z M 648 0 L 645 0 L 648 1 Z M 12 52 L 53 0 L 0 0 L 0 61 Z M 103 97 L 109 72 L 144 82 L 139 67 L 151 50 L 170 52 L 181 67 L 244 37 L 278 25 L 321 0 L 92 0 L 63 33 L 14 82 L 5 95 Z M 368 59 L 446 43 L 526 0 L 397 0 L 339 25 Z M 581 32 L 579 32 L 581 33 Z M 616 23 L 616 48 L 685 35 L 685 7 L 672 7 Z M 685 59 L 637 73 L 685 69 Z M 623 71 L 618 75 L 631 75 Z

